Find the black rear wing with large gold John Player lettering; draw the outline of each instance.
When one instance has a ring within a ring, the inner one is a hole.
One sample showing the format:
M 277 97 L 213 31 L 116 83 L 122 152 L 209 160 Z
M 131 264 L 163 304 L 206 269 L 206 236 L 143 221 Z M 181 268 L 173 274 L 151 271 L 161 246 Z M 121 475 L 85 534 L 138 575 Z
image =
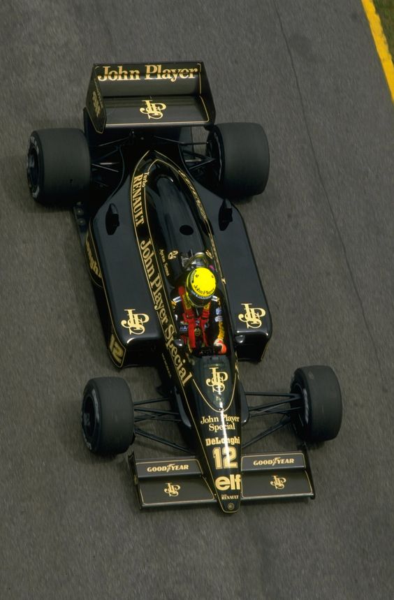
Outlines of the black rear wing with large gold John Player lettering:
M 203 62 L 94 64 L 86 108 L 94 129 L 212 125 Z

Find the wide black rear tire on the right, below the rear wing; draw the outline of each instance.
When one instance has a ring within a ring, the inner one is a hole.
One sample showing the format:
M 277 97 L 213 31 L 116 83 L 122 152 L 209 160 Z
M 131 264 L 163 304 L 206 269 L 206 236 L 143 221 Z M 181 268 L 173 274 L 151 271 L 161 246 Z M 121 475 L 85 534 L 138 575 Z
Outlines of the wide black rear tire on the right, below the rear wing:
M 216 159 L 221 196 L 255 196 L 264 191 L 270 172 L 270 150 L 258 123 L 222 123 L 208 136 L 208 152 Z

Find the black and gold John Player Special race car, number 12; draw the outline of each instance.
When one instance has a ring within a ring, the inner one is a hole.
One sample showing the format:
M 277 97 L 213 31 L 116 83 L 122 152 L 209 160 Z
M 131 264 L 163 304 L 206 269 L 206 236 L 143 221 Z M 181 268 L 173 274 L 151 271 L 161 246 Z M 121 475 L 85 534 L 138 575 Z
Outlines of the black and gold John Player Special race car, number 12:
M 214 125 L 214 117 L 203 63 L 95 64 L 84 133 L 44 129 L 29 140 L 31 195 L 75 213 L 110 358 L 117 367 L 156 365 L 162 381 L 159 398 L 133 403 L 123 379 L 91 379 L 87 447 L 124 453 L 140 435 L 186 453 L 129 455 L 141 507 L 218 502 L 234 513 L 243 501 L 314 497 L 305 441 L 335 438 L 342 420 L 329 367 L 296 369 L 289 393 L 253 393 L 272 398 L 248 405 L 238 361 L 261 360 L 272 328 L 232 201 L 265 189 L 270 158 L 260 125 Z M 202 313 L 194 305 L 200 328 L 182 305 L 181 331 L 174 298 L 198 269 L 213 274 L 214 296 L 198 296 Z M 208 335 L 212 298 L 221 344 Z M 279 421 L 245 441 L 249 417 L 272 414 Z M 147 420 L 179 423 L 187 445 L 144 430 Z M 245 453 L 285 425 L 302 441 L 297 451 Z

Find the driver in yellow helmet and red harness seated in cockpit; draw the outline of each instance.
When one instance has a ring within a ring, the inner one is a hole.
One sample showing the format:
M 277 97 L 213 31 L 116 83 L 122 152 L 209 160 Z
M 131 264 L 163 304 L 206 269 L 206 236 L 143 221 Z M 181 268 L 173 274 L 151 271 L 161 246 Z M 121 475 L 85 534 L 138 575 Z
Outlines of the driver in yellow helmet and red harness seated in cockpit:
M 177 288 L 172 299 L 175 320 L 191 351 L 205 346 L 214 346 L 218 354 L 227 351 L 224 344 L 224 325 L 216 277 L 207 267 L 196 267 L 189 271 L 184 285 Z

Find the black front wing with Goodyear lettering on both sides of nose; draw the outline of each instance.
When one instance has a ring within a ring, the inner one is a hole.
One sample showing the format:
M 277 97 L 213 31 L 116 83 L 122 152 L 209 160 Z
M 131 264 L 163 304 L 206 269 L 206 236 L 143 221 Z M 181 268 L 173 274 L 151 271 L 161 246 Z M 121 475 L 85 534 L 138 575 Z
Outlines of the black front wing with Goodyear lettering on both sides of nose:
M 140 508 L 217 502 L 194 456 L 137 460 L 131 454 L 129 466 Z M 302 497 L 314 498 L 306 453 L 242 455 L 242 502 Z

